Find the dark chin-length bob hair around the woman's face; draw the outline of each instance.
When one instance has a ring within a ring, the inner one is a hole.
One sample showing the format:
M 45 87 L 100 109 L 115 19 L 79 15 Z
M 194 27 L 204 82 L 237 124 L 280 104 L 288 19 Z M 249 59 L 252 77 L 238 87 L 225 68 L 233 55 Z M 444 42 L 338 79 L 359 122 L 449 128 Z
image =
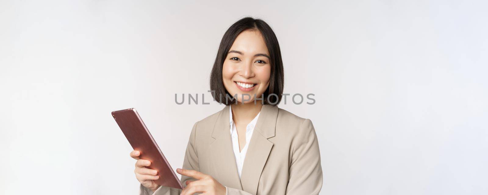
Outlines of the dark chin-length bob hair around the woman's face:
M 251 17 L 243 18 L 232 24 L 229 29 L 225 31 L 224 37 L 220 41 L 217 57 L 215 58 L 212 73 L 210 74 L 210 90 L 212 91 L 212 96 L 215 101 L 225 105 L 237 103 L 237 99 L 233 98 L 224 87 L 222 68 L 224 66 L 224 60 L 227 57 L 227 53 L 234 43 L 234 40 L 241 32 L 246 30 L 259 30 L 261 32 L 266 47 L 268 48 L 269 57 L 271 57 L 269 86 L 261 97 L 263 98 L 262 103 L 278 105 L 282 98 L 285 77 L 283 73 L 283 60 L 281 59 L 280 45 L 278 44 L 278 39 L 273 30 L 264 20 Z

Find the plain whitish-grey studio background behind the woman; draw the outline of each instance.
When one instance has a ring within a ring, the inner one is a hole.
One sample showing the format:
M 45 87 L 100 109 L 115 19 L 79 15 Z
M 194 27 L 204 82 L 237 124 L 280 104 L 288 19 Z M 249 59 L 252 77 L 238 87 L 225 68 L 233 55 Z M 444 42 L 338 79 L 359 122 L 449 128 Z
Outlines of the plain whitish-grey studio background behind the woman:
M 0 193 L 135 195 L 111 111 L 137 108 L 173 169 L 210 100 L 220 39 L 250 15 L 285 93 L 314 105 L 323 195 L 488 194 L 483 1 L 0 1 Z M 201 100 L 200 100 L 201 101 Z M 187 102 L 187 101 L 186 101 Z

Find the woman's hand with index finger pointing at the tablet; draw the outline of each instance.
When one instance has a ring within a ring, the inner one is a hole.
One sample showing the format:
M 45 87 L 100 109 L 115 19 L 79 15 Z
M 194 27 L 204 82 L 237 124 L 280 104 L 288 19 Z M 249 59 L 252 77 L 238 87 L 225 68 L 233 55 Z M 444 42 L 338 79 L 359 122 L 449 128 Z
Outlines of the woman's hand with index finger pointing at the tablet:
M 186 181 L 186 187 L 183 189 L 181 195 L 193 195 L 194 193 L 203 193 L 205 195 L 225 195 L 225 187 L 212 176 L 187 169 L 176 169 L 176 172 L 183 176 L 190 176 L 198 179 L 196 181 Z

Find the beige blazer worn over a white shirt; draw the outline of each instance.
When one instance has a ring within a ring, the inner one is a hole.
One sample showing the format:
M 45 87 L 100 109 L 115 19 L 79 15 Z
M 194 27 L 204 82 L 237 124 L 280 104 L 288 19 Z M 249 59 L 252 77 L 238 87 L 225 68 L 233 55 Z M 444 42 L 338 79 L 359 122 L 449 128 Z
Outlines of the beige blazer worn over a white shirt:
M 319 143 L 310 119 L 263 105 L 244 159 L 241 179 L 230 137 L 229 107 L 196 122 L 183 169 L 210 175 L 227 195 L 317 195 L 322 188 Z M 181 182 L 195 180 L 182 176 Z M 153 192 L 141 185 L 140 195 Z M 160 187 L 154 195 L 180 195 Z

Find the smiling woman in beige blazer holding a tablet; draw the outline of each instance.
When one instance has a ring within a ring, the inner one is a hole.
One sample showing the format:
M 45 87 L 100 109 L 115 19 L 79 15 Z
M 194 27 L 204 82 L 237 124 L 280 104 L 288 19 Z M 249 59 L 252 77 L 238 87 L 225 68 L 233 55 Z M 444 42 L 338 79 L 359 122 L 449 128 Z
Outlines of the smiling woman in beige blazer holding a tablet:
M 322 166 L 309 119 L 276 105 L 284 73 L 278 39 L 263 20 L 244 18 L 225 32 L 210 76 L 221 111 L 196 122 L 182 175 L 184 189 L 158 186 L 151 162 L 136 162 L 141 195 L 317 195 Z M 245 160 L 244 160 L 245 159 Z

